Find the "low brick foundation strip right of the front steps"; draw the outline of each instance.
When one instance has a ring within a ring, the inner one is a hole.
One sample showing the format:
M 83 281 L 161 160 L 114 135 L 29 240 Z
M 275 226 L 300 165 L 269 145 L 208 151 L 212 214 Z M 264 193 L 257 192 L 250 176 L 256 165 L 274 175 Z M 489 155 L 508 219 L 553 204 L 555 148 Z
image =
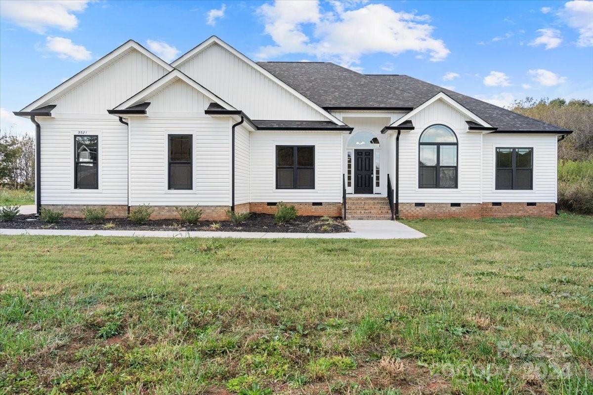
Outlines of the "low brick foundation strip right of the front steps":
M 414 203 L 400 203 L 400 217 L 403 219 L 419 218 L 473 218 L 482 217 L 553 217 L 556 204 L 537 203 L 461 203 L 461 207 L 451 207 L 450 203 L 425 203 L 425 207 L 415 207 Z

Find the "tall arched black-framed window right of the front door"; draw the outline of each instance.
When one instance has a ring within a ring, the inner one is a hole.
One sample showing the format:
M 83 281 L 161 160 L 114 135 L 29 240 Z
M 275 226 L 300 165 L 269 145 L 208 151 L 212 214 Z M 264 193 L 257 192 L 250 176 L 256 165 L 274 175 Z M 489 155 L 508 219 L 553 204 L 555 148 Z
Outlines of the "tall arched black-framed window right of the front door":
M 457 136 L 444 125 L 427 127 L 420 136 L 419 188 L 457 188 Z

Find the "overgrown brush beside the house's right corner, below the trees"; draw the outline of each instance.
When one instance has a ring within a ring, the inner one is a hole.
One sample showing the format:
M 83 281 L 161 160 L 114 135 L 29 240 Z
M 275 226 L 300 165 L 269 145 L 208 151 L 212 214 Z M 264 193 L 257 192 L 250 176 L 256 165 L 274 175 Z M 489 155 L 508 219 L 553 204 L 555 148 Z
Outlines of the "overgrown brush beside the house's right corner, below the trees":
M 593 214 L 593 160 L 560 160 L 558 204 L 563 210 Z

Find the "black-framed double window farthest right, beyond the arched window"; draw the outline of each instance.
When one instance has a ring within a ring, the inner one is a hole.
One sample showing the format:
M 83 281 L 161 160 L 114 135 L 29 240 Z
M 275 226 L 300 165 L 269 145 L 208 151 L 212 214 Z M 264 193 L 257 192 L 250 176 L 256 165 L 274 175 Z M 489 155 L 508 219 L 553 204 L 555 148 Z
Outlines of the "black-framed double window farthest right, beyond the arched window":
M 533 148 L 496 149 L 496 189 L 533 190 Z

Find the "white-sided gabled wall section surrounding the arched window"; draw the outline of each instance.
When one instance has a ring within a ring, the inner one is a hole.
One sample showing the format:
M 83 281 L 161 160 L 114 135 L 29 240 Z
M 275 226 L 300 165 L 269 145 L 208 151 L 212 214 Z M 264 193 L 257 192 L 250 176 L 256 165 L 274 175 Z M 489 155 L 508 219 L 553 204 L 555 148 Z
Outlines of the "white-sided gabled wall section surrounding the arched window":
M 468 133 L 463 114 L 436 101 L 412 117 L 415 130 L 400 135 L 400 202 L 480 203 L 482 135 Z M 450 127 L 458 139 L 458 188 L 418 188 L 418 143 L 420 134 L 433 124 Z

